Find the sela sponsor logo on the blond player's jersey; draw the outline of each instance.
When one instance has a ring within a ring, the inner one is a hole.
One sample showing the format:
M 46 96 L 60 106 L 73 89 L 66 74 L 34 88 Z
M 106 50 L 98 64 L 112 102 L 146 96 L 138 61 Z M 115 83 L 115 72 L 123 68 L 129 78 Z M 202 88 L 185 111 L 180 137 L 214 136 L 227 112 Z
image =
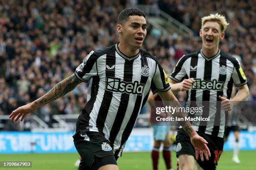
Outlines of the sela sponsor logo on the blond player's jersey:
M 202 89 L 202 90 L 223 90 L 224 82 L 217 80 L 201 80 L 194 79 L 195 81 L 192 84 L 192 89 Z

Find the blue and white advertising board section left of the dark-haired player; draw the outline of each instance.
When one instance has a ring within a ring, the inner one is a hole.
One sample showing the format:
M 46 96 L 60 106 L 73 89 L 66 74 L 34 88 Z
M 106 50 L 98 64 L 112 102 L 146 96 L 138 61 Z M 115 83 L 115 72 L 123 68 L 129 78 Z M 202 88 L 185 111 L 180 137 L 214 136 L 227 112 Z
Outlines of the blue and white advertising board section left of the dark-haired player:
M 73 133 L 1 132 L 0 153 L 75 153 Z

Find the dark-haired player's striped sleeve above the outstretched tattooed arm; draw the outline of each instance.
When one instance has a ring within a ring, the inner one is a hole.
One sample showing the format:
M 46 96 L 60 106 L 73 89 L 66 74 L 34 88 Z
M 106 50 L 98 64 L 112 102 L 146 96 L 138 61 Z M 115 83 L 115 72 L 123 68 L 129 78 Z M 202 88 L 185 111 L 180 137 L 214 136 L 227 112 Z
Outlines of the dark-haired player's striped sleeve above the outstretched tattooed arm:
M 76 68 L 75 75 L 82 82 L 88 82 L 91 77 L 97 75 L 97 56 L 94 51 L 88 54 L 83 62 Z

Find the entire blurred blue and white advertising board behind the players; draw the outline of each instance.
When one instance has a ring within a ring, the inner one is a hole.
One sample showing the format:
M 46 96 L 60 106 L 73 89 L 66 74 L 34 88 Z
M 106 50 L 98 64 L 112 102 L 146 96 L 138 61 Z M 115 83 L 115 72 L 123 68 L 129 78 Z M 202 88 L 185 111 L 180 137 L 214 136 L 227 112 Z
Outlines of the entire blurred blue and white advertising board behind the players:
M 12 153 L 76 153 L 72 132 L 32 133 L 1 132 L 0 154 Z M 241 131 L 240 149 L 256 150 L 256 132 Z M 224 145 L 224 150 L 233 150 L 233 133 Z M 153 130 L 136 128 L 126 142 L 124 152 L 148 152 L 153 147 Z

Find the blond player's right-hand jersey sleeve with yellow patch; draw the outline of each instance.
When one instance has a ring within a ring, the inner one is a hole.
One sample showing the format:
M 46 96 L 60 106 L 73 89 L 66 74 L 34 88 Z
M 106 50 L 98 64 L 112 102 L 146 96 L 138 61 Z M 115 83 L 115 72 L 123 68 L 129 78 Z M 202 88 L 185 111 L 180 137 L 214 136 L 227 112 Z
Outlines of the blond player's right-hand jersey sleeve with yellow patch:
M 234 69 L 232 73 L 232 78 L 233 78 L 234 84 L 236 86 L 245 85 L 247 83 L 247 80 L 240 63 L 238 62 L 238 60 L 236 60 L 236 62 L 234 62 L 233 64 L 234 64 Z

